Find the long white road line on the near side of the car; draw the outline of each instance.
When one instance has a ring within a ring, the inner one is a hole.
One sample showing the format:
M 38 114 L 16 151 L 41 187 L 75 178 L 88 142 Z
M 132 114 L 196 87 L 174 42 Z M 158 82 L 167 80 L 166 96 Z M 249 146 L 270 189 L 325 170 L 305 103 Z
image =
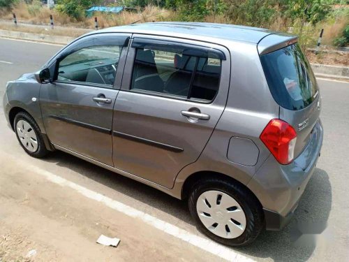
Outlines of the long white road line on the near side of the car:
M 14 161 L 17 160 L 9 154 L 6 154 L 6 156 L 8 158 L 12 158 Z M 65 178 L 60 177 L 58 175 L 54 175 L 53 173 L 47 170 L 38 168 L 37 166 L 32 166 L 30 164 L 25 164 L 23 168 L 25 169 L 28 168 L 29 170 L 31 170 L 31 173 L 35 172 L 38 175 L 42 175 L 50 182 L 59 184 L 61 187 L 69 187 L 70 189 L 77 191 L 83 196 L 90 198 L 94 201 L 103 203 L 107 207 L 112 208 L 113 210 L 117 210 L 118 212 L 124 213 L 129 217 L 140 219 L 144 223 L 149 224 L 150 226 L 154 226 L 154 228 L 157 228 L 158 230 L 168 233 L 169 235 L 172 235 L 175 238 L 179 238 L 184 242 L 188 242 L 188 244 L 194 245 L 195 247 L 198 247 L 205 252 L 214 254 L 220 257 L 221 259 L 225 259 L 228 261 L 237 261 L 237 262 L 254 261 L 253 259 L 250 259 L 247 256 L 244 256 L 243 254 L 239 254 L 238 252 L 235 252 L 235 250 L 233 249 L 224 247 L 223 245 L 220 245 L 214 242 L 213 240 L 209 240 L 207 238 L 202 238 L 198 235 L 194 235 L 193 233 L 190 233 L 182 228 L 179 228 L 178 226 L 174 226 L 166 221 L 153 217 L 150 214 L 147 214 L 140 210 L 136 210 L 131 206 L 125 205 L 124 203 L 121 203 L 119 201 L 115 201 L 114 199 L 108 198 L 107 196 L 103 196 L 102 194 L 99 194 L 95 191 L 82 187 L 79 184 L 70 182 L 69 180 L 66 180 Z

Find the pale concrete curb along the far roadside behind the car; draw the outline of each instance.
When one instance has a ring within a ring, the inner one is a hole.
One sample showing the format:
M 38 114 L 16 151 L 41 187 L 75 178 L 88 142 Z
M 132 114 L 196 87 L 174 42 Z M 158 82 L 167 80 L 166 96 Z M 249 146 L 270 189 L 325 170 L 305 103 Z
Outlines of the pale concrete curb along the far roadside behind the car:
M 0 29 L 0 37 L 23 39 L 29 41 L 38 41 L 43 43 L 55 43 L 66 45 L 75 40 L 69 36 L 51 36 L 45 34 L 25 33 L 20 31 L 8 31 Z M 316 76 L 334 78 L 334 79 L 349 79 L 348 66 L 329 66 L 325 64 L 311 64 Z

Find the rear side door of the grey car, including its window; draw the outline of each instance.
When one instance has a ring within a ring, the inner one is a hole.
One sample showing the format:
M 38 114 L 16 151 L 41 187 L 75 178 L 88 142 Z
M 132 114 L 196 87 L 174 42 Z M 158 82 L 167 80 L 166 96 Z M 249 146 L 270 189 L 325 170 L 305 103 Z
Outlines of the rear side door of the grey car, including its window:
M 229 81 L 220 45 L 134 35 L 114 105 L 115 168 L 171 188 L 207 144 Z

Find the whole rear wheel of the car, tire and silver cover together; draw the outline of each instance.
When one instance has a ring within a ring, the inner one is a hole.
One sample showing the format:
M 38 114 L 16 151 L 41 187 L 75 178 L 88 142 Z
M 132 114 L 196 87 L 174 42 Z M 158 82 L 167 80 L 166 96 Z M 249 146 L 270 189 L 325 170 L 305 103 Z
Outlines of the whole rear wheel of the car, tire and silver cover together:
M 193 186 L 188 205 L 197 228 L 224 245 L 248 245 L 264 227 L 260 203 L 240 184 L 200 181 Z

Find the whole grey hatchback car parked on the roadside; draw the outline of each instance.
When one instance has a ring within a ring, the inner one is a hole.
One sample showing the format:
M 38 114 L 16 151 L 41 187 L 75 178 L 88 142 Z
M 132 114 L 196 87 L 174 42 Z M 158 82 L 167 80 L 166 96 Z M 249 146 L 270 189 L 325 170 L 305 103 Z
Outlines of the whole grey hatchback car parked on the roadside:
M 322 146 L 297 37 L 252 27 L 94 31 L 8 82 L 3 105 L 32 157 L 61 150 L 184 199 L 230 246 L 287 224 Z

